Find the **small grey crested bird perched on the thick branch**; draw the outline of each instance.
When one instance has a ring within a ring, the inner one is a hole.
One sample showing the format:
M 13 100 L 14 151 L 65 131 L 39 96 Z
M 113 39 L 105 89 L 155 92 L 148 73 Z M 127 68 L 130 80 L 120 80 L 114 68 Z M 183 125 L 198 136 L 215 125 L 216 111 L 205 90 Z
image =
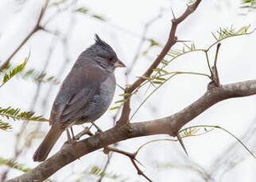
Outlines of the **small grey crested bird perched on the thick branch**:
M 94 123 L 114 97 L 114 70 L 126 67 L 113 48 L 95 34 L 95 44 L 83 51 L 60 86 L 52 104 L 51 126 L 33 161 L 45 161 L 60 135 L 74 124 Z

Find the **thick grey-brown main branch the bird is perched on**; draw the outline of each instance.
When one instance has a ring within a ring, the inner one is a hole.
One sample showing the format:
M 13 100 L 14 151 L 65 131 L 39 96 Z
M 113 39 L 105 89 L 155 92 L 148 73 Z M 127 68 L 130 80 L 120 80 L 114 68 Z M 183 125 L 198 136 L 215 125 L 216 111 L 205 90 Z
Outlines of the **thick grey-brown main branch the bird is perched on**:
M 256 94 L 256 80 L 237 82 L 220 87 L 211 87 L 194 103 L 180 112 L 161 119 L 145 121 L 142 123 L 129 123 L 121 127 L 113 127 L 108 131 L 98 133 L 77 142 L 75 146 L 64 145 L 59 152 L 42 162 L 28 173 L 18 176 L 8 182 L 42 181 L 47 179 L 57 170 L 72 161 L 99 150 L 115 142 L 146 135 L 168 134 L 175 135 L 186 123 L 199 116 L 219 101 L 233 97 L 245 97 Z

